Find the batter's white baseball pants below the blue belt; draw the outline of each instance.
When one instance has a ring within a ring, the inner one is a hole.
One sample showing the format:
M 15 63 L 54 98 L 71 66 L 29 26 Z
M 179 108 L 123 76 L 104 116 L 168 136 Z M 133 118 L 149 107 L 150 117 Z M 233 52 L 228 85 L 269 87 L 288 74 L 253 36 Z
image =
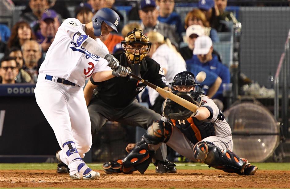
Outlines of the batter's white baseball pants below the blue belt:
M 60 148 L 67 141 L 75 142 L 81 158 L 92 146 L 91 122 L 83 88 L 45 79 L 39 74 L 34 90 L 36 102 L 52 127 Z M 60 159 L 68 165 L 65 152 Z

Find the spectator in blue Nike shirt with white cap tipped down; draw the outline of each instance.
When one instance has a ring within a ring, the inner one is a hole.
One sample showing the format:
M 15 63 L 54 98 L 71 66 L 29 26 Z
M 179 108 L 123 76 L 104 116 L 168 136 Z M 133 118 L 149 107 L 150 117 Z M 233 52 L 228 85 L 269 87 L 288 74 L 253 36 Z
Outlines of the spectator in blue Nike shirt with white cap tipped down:
M 203 67 L 213 73 L 217 74 L 222 79 L 222 84 L 230 83 L 229 68 L 218 61 L 217 55 L 212 54 L 213 42 L 208 36 L 200 36 L 194 42 L 193 57 L 186 61 L 187 67 L 195 64 Z M 219 87 L 217 93 L 212 97 L 224 101 L 222 96 L 222 85 Z

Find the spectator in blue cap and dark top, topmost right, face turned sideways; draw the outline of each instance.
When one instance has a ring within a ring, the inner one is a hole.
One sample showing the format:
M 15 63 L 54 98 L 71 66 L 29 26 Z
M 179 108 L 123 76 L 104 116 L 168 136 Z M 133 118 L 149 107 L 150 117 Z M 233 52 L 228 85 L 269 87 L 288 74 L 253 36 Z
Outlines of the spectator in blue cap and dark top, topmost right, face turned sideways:
M 199 0 L 198 8 L 204 12 L 210 27 L 217 30 L 217 32 L 229 32 L 230 29 L 226 24 L 221 23 L 221 18 L 219 17 L 220 12 L 214 2 L 214 0 Z

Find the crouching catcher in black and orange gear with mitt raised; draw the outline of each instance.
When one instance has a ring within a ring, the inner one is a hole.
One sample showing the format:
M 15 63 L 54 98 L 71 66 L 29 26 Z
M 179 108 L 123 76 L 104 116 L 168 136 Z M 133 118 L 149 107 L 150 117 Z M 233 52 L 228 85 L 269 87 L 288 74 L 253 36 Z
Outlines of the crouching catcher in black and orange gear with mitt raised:
M 196 86 L 191 72 L 177 74 L 172 82 L 172 91 L 200 107 L 196 112 L 191 112 L 167 100 L 164 117 L 154 122 L 136 145 L 127 146 L 126 150 L 131 152 L 124 159 L 103 164 L 105 171 L 131 173 L 138 170 L 144 173 L 149 165 L 147 159 L 151 158 L 151 150 L 159 148 L 164 142 L 192 161 L 225 172 L 254 175 L 257 167 L 232 152 L 231 129 L 222 112 L 213 100 L 196 91 Z

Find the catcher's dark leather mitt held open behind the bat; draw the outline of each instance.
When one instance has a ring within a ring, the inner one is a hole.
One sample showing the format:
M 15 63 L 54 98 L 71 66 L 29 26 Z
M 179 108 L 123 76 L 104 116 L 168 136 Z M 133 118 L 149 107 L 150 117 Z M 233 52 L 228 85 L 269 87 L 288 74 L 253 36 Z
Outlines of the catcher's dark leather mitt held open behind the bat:
M 177 92 L 176 95 L 199 106 L 198 102 L 193 99 L 193 96 L 189 92 Z M 169 101 L 164 107 L 164 114 L 169 119 L 184 120 L 191 117 L 193 112 L 174 101 Z

